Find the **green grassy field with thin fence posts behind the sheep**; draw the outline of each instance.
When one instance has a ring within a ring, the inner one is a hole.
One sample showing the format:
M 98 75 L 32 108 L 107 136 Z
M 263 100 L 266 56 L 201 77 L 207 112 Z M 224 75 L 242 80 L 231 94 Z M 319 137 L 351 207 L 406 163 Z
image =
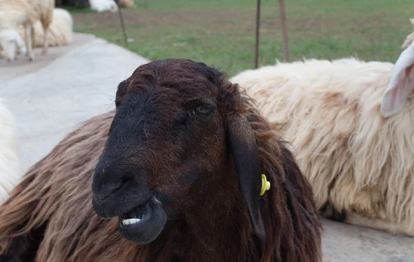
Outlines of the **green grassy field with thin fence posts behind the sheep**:
M 254 67 L 255 0 L 136 0 L 123 9 L 128 49 L 150 60 L 189 58 L 233 76 Z M 414 30 L 412 0 L 285 1 L 291 59 L 395 62 Z M 71 9 L 75 31 L 124 46 L 118 13 Z M 259 65 L 284 61 L 278 0 L 262 0 Z

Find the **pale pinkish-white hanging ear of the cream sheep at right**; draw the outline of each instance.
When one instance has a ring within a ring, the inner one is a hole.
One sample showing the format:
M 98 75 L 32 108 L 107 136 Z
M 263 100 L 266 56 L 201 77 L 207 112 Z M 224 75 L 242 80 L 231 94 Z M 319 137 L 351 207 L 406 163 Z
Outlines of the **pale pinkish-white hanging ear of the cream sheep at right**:
M 391 80 L 382 94 L 381 114 L 389 117 L 400 112 L 406 99 L 413 92 L 414 85 L 414 42 L 404 50 L 397 59 Z

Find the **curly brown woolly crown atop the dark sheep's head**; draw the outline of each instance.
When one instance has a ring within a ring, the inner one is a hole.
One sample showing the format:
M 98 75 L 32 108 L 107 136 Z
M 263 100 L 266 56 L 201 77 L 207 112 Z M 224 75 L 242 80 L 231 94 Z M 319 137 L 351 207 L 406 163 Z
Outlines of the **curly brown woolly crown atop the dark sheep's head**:
M 148 94 L 160 103 L 192 99 L 218 99 L 217 71 L 188 59 L 164 59 L 139 66 L 120 83 L 117 94 Z M 138 99 L 138 97 L 137 97 Z M 122 99 L 124 100 L 124 99 Z

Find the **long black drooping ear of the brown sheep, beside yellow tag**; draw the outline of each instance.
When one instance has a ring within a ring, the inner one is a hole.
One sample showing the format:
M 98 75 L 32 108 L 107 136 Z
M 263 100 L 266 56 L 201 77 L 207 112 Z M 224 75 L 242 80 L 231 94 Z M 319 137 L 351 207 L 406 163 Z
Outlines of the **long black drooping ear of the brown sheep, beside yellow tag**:
M 255 134 L 246 117 L 227 118 L 227 141 L 233 157 L 239 189 L 246 203 L 250 223 L 259 240 L 264 243 L 266 232 L 259 210 L 259 194 L 262 188 L 262 168 Z

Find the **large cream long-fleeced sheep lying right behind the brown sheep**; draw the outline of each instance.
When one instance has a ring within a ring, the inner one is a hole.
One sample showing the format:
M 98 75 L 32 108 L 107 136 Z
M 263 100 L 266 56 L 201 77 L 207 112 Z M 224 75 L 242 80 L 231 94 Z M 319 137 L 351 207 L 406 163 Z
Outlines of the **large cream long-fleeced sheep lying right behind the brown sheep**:
M 324 216 L 414 236 L 414 44 L 395 63 L 297 61 L 231 78 L 257 101 Z

